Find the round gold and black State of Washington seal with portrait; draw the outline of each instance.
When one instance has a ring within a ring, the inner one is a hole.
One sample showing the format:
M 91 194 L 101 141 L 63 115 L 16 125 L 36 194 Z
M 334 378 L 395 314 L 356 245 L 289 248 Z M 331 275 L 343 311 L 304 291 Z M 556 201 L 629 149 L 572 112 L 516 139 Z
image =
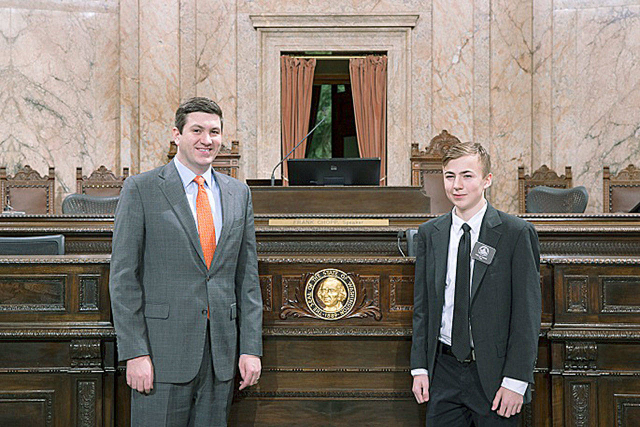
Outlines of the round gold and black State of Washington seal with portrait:
M 305 301 L 309 310 L 319 318 L 337 320 L 353 309 L 356 287 L 344 271 L 325 268 L 307 280 Z

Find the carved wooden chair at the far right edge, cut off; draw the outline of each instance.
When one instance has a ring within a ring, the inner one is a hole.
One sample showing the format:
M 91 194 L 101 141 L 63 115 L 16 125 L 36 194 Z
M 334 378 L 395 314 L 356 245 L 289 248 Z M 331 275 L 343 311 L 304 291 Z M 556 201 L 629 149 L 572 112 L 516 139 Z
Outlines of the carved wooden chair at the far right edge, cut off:
M 640 202 L 640 169 L 628 165 L 612 176 L 609 166 L 604 166 L 602 187 L 604 212 L 628 212 Z

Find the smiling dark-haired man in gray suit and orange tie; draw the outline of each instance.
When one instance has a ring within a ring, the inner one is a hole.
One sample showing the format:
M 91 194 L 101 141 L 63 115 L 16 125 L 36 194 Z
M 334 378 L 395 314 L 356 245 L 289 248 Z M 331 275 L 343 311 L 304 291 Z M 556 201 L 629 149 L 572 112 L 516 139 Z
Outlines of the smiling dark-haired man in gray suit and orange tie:
M 246 185 L 211 168 L 222 125 L 215 102 L 184 102 L 173 161 L 120 193 L 109 290 L 134 426 L 225 426 L 237 354 L 240 389 L 260 376 L 253 207 Z

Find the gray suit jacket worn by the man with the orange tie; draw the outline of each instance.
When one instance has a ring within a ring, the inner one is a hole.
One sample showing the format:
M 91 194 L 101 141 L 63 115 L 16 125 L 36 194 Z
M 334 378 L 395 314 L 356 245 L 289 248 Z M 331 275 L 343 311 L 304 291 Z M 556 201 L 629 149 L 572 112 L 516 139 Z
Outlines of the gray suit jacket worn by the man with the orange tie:
M 127 178 L 120 193 L 109 280 L 118 359 L 150 355 L 157 382 L 188 382 L 198 373 L 207 305 L 218 380 L 233 378 L 237 342 L 239 353 L 262 355 L 251 193 L 214 174 L 223 223 L 209 270 L 173 162 Z

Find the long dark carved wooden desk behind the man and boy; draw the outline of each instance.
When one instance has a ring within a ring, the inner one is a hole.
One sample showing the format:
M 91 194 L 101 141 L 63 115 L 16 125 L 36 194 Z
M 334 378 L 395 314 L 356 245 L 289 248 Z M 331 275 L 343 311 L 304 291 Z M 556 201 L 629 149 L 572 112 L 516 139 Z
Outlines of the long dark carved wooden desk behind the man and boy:
M 396 256 L 396 233 L 431 216 L 387 216 L 388 227 L 271 227 L 268 215 L 257 216 L 264 373 L 236 395 L 231 425 L 422 425 L 408 373 L 413 259 Z M 637 425 L 640 216 L 524 217 L 541 239 L 543 315 L 534 401 L 522 424 Z M 67 248 L 104 250 L 113 227 L 108 217 L 1 219 L 4 235 L 63 232 Z M 15 424 L 15 414 L 31 417 L 22 425 L 128 425 L 108 262 L 0 258 L 0 425 Z M 358 279 L 364 317 L 294 316 L 296 307 L 304 312 L 296 289 L 324 268 Z

